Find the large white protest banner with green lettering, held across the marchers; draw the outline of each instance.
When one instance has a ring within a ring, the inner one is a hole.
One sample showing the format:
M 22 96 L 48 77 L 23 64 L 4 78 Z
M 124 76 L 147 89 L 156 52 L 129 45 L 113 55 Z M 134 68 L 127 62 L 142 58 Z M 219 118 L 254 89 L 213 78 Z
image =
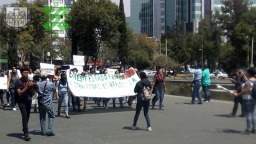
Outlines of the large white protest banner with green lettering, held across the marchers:
M 81 74 L 67 71 L 68 86 L 75 96 L 124 97 L 134 96 L 135 84 L 140 81 L 134 69 L 124 74 Z

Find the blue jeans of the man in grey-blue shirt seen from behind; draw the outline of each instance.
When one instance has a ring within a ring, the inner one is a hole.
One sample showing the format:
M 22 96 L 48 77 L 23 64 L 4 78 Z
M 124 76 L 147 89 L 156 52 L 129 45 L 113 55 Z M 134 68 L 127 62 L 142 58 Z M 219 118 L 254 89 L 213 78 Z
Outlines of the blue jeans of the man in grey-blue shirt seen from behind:
M 53 114 L 53 106 L 51 103 L 45 105 L 39 105 L 39 119 L 40 119 L 40 126 L 42 134 L 47 133 L 45 127 L 45 116 L 46 113 L 48 114 L 48 133 L 53 132 L 53 124 L 55 115 Z

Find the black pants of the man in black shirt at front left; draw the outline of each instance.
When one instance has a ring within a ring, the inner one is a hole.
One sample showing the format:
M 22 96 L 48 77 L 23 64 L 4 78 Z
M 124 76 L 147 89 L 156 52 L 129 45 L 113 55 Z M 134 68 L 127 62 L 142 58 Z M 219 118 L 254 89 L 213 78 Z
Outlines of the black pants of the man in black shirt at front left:
M 24 133 L 29 132 L 29 127 L 27 124 L 29 123 L 30 110 L 31 110 L 31 101 L 30 102 L 19 102 L 19 109 L 21 111 L 22 116 L 22 131 Z

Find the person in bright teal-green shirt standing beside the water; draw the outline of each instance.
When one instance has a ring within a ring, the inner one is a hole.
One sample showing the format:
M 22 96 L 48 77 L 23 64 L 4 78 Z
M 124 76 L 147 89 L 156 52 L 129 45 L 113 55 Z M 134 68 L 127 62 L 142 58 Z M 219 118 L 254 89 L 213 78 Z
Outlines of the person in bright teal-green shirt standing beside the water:
M 209 91 L 210 84 L 211 84 L 210 71 L 209 71 L 208 65 L 204 65 L 204 70 L 202 73 L 202 86 L 203 86 L 203 91 L 204 91 L 204 102 L 211 101 L 211 94 Z

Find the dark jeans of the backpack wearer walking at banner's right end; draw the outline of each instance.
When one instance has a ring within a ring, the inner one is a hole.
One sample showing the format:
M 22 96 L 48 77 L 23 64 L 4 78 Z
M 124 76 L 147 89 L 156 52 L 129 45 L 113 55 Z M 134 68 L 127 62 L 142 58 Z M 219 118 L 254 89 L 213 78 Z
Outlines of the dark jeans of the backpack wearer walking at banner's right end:
M 137 100 L 137 105 L 136 105 L 136 113 L 134 116 L 134 127 L 136 127 L 137 125 L 137 121 L 139 119 L 139 115 L 140 115 L 140 111 L 143 107 L 144 110 L 144 117 L 147 121 L 147 127 L 151 127 L 150 124 L 150 119 L 149 119 L 149 105 L 150 105 L 150 101 L 142 101 L 142 99 L 138 99 Z

